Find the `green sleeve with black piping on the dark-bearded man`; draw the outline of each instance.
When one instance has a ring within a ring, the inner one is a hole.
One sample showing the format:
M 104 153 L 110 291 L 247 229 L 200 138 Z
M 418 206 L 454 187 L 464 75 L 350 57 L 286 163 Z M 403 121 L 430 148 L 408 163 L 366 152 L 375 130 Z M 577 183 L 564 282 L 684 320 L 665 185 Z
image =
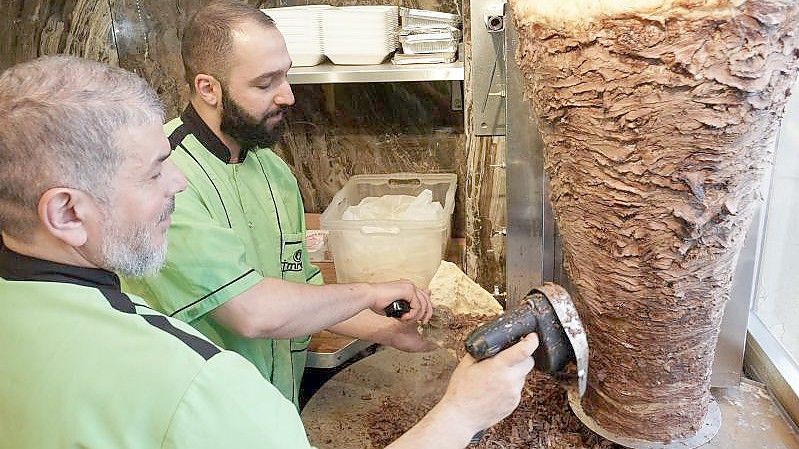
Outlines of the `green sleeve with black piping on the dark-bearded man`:
M 175 197 L 164 267 L 153 277 L 126 279 L 125 288 L 158 311 L 191 322 L 260 282 L 263 277 L 245 262 L 241 240 L 219 221 L 189 185 Z

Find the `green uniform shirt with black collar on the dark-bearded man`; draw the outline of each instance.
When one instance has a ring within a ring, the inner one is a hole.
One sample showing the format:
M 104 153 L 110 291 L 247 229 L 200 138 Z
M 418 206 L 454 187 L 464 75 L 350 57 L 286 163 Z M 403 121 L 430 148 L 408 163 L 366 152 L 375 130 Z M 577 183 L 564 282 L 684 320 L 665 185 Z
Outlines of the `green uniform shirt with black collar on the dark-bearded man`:
M 296 404 L 308 337 L 241 337 L 209 312 L 264 277 L 321 283 L 308 262 L 297 180 L 268 148 L 231 164 L 227 147 L 191 105 L 165 128 L 188 188 L 175 198 L 166 265 L 155 277 L 126 280 L 125 289 L 244 356 Z

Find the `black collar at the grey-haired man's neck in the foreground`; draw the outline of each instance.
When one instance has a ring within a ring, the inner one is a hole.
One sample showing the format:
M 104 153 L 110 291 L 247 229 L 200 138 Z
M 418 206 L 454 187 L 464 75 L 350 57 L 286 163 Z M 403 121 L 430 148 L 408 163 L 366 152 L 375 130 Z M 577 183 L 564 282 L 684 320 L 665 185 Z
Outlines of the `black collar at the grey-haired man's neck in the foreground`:
M 9 281 L 45 281 L 120 290 L 119 277 L 99 268 L 64 265 L 11 251 L 0 241 L 0 277 Z

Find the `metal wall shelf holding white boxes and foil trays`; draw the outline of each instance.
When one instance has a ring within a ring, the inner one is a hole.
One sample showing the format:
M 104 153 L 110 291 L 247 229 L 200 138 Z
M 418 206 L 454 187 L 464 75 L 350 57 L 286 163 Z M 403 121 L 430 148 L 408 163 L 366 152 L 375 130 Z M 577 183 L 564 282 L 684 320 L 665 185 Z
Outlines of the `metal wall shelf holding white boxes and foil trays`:
M 390 62 L 378 65 L 334 65 L 328 62 L 314 67 L 293 67 L 289 70 L 288 79 L 291 84 L 462 81 L 463 62 L 407 65 Z

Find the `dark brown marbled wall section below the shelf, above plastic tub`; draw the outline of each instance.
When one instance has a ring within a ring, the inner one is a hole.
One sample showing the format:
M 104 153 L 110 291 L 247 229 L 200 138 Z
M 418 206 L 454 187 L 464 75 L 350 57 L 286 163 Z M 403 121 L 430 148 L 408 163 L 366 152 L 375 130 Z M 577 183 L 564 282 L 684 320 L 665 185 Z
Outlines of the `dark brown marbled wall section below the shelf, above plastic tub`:
M 295 168 L 306 209 L 323 210 L 353 174 L 455 172 L 463 115 L 448 82 L 294 86 L 278 152 Z M 462 176 L 462 174 L 461 174 Z

